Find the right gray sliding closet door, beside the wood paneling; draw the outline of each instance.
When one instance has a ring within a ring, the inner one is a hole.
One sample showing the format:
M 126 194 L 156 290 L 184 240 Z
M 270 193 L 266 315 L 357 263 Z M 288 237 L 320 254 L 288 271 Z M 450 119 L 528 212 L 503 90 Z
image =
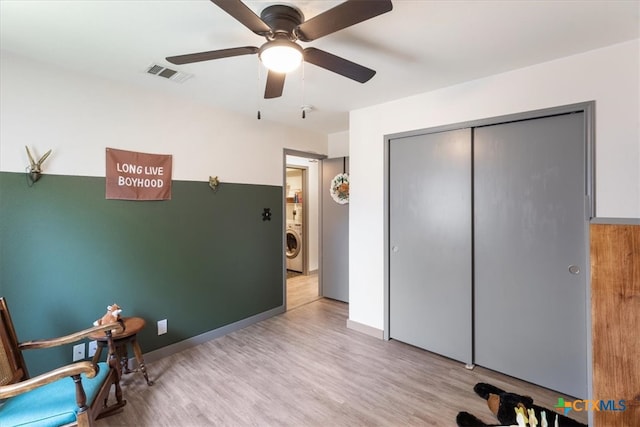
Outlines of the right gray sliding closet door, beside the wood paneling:
M 474 131 L 475 362 L 586 398 L 583 116 Z

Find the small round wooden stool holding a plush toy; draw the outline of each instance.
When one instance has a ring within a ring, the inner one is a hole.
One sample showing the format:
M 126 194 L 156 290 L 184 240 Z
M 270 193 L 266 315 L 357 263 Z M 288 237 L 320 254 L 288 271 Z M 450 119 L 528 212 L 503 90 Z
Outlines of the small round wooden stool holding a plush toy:
M 117 332 L 112 335 L 116 353 L 118 358 L 120 358 L 122 373 L 131 373 L 131 370 L 129 369 L 129 356 L 127 353 L 127 344 L 131 343 L 131 347 L 133 348 L 133 352 L 136 356 L 136 361 L 138 362 L 138 367 L 140 368 L 140 371 L 142 371 L 144 379 L 147 380 L 147 385 L 153 385 L 153 381 L 149 381 L 147 367 L 144 365 L 142 351 L 140 350 L 140 344 L 138 344 L 138 332 L 144 328 L 144 319 L 141 317 L 123 317 L 122 320 L 124 322 L 124 331 Z M 102 354 L 102 349 L 107 346 L 107 338 L 104 335 L 91 335 L 90 337 L 91 339 L 96 340 L 98 344 L 96 354 L 93 355 L 92 359 L 93 363 L 98 363 L 100 355 Z

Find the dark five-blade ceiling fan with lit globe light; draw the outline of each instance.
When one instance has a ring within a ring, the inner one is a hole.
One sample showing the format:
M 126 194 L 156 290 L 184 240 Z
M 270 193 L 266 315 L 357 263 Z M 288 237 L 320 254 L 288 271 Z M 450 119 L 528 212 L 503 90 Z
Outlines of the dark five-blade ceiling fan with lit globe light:
M 282 96 L 286 73 L 297 68 L 304 60 L 326 70 L 348 77 L 360 83 L 369 81 L 375 70 L 351 62 L 323 50 L 308 47 L 303 49 L 297 41 L 310 42 L 328 34 L 389 12 L 391 0 L 347 0 L 308 21 L 294 6 L 272 5 L 260 16 L 253 13 L 240 0 L 211 0 L 242 25 L 266 38 L 261 47 L 243 46 L 208 52 L 169 56 L 167 61 L 182 65 L 239 55 L 258 54 L 269 70 L 265 87 L 265 98 Z

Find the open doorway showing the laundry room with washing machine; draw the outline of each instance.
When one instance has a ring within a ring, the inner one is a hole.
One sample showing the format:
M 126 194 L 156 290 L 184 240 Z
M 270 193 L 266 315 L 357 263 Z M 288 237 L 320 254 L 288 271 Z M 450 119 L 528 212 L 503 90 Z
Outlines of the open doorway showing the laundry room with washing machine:
M 285 150 L 284 215 L 284 300 L 286 310 L 321 298 L 320 174 L 324 156 Z

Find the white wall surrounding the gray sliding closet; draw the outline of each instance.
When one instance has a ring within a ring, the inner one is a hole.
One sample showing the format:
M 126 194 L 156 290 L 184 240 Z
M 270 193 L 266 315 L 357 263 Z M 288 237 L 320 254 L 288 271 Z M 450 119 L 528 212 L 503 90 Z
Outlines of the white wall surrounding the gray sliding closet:
M 640 40 L 351 112 L 350 320 L 384 327 L 385 135 L 591 100 L 597 215 L 638 218 Z

